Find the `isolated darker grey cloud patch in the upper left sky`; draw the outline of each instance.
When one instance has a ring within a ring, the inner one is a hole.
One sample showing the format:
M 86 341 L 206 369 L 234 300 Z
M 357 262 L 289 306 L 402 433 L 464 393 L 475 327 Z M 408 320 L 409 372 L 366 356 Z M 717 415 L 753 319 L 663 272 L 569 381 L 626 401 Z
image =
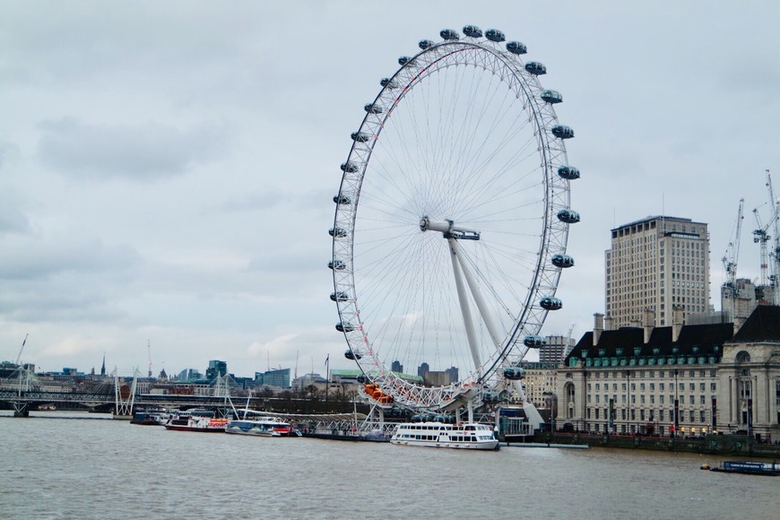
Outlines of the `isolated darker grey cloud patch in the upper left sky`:
M 210 126 L 182 131 L 156 123 L 89 125 L 65 117 L 42 122 L 39 130 L 40 161 L 77 178 L 170 178 L 221 158 L 227 148 L 223 130 Z

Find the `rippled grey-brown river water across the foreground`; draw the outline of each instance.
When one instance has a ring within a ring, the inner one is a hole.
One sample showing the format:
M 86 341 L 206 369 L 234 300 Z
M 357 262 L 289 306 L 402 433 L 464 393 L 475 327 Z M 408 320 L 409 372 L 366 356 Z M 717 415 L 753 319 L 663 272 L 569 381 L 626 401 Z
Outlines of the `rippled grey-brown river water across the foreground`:
M 714 455 L 464 452 L 39 415 L 0 416 L 0 518 L 780 518 L 780 478 L 701 471 Z

